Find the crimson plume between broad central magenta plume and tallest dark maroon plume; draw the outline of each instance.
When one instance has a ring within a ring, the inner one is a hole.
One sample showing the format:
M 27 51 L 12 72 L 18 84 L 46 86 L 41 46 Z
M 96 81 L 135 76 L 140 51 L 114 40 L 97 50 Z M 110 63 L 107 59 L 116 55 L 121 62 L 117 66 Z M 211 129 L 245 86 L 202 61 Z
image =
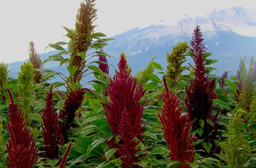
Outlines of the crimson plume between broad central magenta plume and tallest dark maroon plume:
M 197 139 L 189 135 L 193 122 L 188 121 L 188 115 L 182 115 L 184 105 L 178 107 L 180 100 L 175 93 L 169 90 L 166 78 L 163 78 L 166 93 L 162 93 L 163 109 L 162 116 L 158 113 L 163 126 L 163 136 L 169 148 L 169 156 L 174 161 L 180 162 L 178 167 L 190 168 L 188 162 L 194 162 L 195 152 L 192 143 Z M 177 108 L 178 107 L 178 108 Z M 177 110 L 176 110 L 177 108 Z

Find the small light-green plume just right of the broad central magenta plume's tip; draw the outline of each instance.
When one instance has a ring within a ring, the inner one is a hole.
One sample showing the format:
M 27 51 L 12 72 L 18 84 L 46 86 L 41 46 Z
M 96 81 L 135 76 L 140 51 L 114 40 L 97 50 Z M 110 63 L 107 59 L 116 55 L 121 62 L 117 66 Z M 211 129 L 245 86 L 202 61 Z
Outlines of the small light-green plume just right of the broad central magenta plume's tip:
M 153 73 L 155 69 L 152 64 L 153 59 L 148 63 L 148 66 L 144 70 L 140 70 L 139 72 L 136 72 L 135 78 L 137 78 L 138 85 L 145 84 L 149 81 L 149 77 L 147 73 Z

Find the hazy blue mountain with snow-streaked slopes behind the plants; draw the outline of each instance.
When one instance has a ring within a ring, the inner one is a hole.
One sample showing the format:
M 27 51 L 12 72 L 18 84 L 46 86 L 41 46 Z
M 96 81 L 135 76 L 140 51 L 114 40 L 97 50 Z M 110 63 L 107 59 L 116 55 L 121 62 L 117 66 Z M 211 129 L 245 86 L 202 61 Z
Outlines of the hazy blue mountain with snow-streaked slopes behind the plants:
M 250 58 L 254 55 L 256 59 L 256 37 L 241 34 L 243 29 L 256 28 L 256 11 L 233 7 L 221 11 L 213 12 L 205 17 L 191 18 L 178 21 L 175 25 L 152 25 L 143 29 L 139 27 L 131 29 L 119 35 L 114 35 L 114 41 L 108 42 L 104 51 L 116 58 L 111 58 L 108 62 L 117 67 L 119 55 L 125 52 L 128 64 L 132 68 L 132 74 L 138 70 L 143 70 L 154 56 L 154 61 L 166 68 L 166 52 L 171 52 L 172 47 L 177 43 L 192 40 L 193 30 L 201 27 L 204 44 L 208 48 L 207 52 L 212 52 L 210 59 L 219 60 L 211 67 L 218 71 L 213 71 L 215 75 L 222 75 L 224 71 L 230 71 L 229 75 L 235 75 L 239 68 L 239 59 L 245 59 L 249 66 Z M 40 54 L 41 59 L 48 58 L 58 51 Z M 17 78 L 17 72 L 23 62 L 8 64 L 9 75 Z M 186 64 L 194 64 L 191 58 L 187 58 Z M 44 65 L 45 69 L 67 72 L 66 67 L 58 67 L 58 62 L 50 62 Z M 110 74 L 113 76 L 115 69 L 110 67 Z M 92 76 L 89 77 L 93 78 Z M 56 79 L 58 80 L 58 79 Z M 88 80 L 87 80 L 88 81 Z

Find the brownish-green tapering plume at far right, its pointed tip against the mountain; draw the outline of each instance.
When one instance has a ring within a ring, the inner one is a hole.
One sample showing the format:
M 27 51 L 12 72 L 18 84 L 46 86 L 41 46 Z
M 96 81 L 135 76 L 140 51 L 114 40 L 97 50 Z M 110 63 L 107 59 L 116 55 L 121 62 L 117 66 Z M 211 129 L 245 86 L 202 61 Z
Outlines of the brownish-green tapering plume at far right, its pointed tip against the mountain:
M 253 100 L 253 82 L 252 82 L 252 65 L 247 75 L 244 76 L 244 83 L 242 85 L 241 94 L 239 95 L 239 107 L 247 112 L 250 112 L 250 104 Z

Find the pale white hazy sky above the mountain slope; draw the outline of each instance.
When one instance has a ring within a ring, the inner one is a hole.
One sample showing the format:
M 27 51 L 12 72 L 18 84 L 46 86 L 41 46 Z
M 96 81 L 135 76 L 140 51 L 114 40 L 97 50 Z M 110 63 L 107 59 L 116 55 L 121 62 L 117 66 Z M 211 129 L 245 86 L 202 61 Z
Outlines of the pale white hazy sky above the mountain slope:
M 29 58 L 29 41 L 38 53 L 48 43 L 68 42 L 61 26 L 74 29 L 82 0 L 5 0 L 0 3 L 0 62 Z M 174 3 L 175 2 L 175 3 Z M 135 27 L 175 24 L 186 17 L 204 16 L 232 6 L 256 9 L 253 0 L 96 0 L 96 32 L 108 37 Z

